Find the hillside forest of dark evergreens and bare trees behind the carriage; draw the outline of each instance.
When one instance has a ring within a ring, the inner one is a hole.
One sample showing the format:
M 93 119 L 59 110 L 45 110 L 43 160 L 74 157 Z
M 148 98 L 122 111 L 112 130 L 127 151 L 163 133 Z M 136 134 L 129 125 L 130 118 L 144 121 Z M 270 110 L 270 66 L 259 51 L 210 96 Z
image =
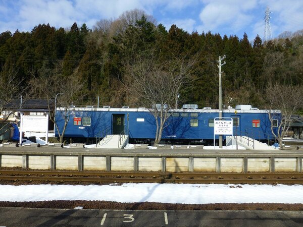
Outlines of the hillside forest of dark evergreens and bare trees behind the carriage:
M 194 80 L 181 88 L 179 104 L 218 108 L 217 60 L 224 54 L 225 107 L 262 107 L 268 84 L 303 83 L 303 30 L 284 32 L 267 43 L 257 35 L 250 42 L 245 33 L 243 37 L 222 37 L 207 31 L 189 34 L 176 25 L 165 28 L 151 16 L 135 10 L 115 20 L 101 20 L 93 28 L 75 22 L 70 29 L 40 24 L 31 32 L 12 32 L 0 35 L 2 75 L 17 72 L 21 86 L 29 92 L 29 83 L 35 78 L 58 73 L 61 77 L 72 75 L 76 82 L 85 84 L 76 94 L 84 96 L 82 105 L 96 105 L 99 96 L 100 105 L 135 107 L 137 97 L 123 85 L 128 76 L 126 65 L 140 59 L 186 59 L 196 53 Z M 45 97 L 32 90 L 31 98 Z

